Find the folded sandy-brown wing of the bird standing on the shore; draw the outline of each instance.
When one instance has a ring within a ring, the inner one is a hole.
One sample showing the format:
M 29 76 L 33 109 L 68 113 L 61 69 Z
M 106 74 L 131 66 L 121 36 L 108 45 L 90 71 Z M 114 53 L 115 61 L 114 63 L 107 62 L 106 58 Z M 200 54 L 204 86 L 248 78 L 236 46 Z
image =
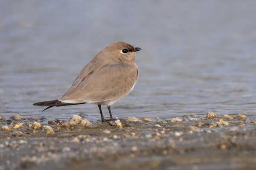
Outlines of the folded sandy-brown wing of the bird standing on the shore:
M 138 77 L 136 65 L 118 63 L 106 64 L 72 85 L 61 102 L 103 102 L 122 99 L 133 88 Z

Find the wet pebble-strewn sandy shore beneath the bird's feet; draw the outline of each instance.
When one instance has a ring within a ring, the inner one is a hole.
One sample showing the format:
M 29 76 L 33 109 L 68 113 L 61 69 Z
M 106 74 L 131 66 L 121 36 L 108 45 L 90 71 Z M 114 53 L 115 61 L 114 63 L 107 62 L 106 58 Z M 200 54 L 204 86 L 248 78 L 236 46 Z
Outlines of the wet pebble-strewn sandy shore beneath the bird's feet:
M 0 170 L 255 169 L 256 119 L 206 117 L 119 119 L 119 126 L 119 121 L 83 126 L 52 120 L 38 128 L 30 124 L 45 118 L 2 117 Z

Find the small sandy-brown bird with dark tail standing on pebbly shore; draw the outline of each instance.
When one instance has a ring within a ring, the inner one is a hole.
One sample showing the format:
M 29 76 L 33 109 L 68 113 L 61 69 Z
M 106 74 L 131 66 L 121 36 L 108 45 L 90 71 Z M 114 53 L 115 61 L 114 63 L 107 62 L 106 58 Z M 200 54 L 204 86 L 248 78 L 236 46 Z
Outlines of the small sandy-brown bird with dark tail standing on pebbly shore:
M 142 50 L 127 42 L 113 42 L 84 66 L 70 89 L 60 98 L 33 105 L 54 106 L 96 104 L 102 122 L 106 120 L 101 105 L 107 105 L 110 120 L 113 121 L 111 106 L 127 96 L 138 79 L 138 67 L 134 61 L 136 52 Z M 42 111 L 42 112 L 43 112 Z

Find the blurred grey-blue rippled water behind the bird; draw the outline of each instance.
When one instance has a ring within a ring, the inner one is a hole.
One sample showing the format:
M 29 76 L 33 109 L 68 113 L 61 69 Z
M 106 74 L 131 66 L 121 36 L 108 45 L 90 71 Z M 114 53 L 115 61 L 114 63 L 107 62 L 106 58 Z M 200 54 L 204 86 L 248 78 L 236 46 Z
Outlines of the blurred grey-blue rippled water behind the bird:
M 0 1 L 0 114 L 100 118 L 96 105 L 51 108 L 105 46 L 140 47 L 139 80 L 113 116 L 169 119 L 256 113 L 256 1 Z M 107 114 L 106 107 L 103 111 Z

